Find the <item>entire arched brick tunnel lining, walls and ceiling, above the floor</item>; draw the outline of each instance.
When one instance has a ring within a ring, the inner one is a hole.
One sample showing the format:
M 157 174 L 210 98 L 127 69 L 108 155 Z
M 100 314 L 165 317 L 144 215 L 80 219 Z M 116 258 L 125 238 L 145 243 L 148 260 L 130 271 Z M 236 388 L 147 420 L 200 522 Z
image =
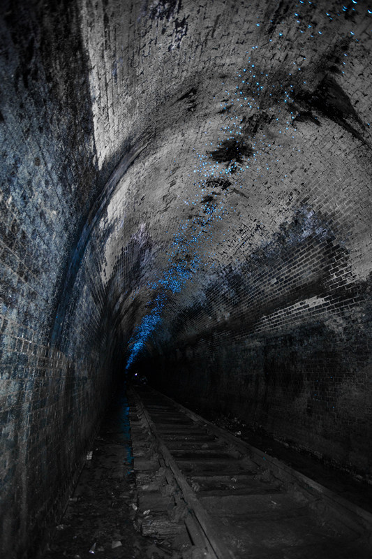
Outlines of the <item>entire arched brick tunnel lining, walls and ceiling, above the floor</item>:
M 372 3 L 0 9 L 3 557 L 136 376 L 371 484 Z

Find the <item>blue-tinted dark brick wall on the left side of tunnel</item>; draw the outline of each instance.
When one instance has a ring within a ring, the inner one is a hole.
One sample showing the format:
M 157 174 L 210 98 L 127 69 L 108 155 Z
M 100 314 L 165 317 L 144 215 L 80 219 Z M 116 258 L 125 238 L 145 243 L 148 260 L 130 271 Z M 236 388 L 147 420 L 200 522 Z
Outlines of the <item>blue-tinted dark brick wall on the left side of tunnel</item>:
M 0 547 L 36 557 L 110 391 L 110 340 L 89 298 L 69 340 L 53 337 L 77 235 L 105 182 L 74 3 L 1 3 L 0 81 Z

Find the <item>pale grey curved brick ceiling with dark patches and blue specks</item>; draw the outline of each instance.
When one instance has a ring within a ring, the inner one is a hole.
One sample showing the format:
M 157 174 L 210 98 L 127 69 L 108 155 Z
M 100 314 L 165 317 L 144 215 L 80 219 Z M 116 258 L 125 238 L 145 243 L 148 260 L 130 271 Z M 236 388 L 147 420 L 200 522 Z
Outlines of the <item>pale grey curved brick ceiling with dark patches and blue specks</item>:
M 226 328 L 272 330 L 302 302 L 320 312 L 341 258 L 343 284 L 366 279 L 370 13 L 82 2 L 98 168 L 126 158 L 89 226 L 91 281 L 130 363 Z M 337 311 L 320 315 L 338 328 Z

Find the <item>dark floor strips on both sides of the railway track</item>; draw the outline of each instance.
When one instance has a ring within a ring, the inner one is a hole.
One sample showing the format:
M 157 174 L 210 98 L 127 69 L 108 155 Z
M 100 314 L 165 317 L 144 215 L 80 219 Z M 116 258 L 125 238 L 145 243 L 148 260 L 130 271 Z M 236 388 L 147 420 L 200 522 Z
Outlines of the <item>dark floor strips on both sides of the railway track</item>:
M 269 437 L 252 433 L 233 416 L 209 414 L 206 419 L 282 460 L 337 495 L 372 511 L 372 488 L 366 484 Z M 162 549 L 161 542 L 143 537 L 135 530 L 136 491 L 132 467 L 129 408 L 123 389 L 112 398 L 91 445 L 91 456 L 87 455 L 75 491 L 43 559 L 84 559 L 93 555 L 107 559 L 165 559 L 172 556 L 169 549 Z

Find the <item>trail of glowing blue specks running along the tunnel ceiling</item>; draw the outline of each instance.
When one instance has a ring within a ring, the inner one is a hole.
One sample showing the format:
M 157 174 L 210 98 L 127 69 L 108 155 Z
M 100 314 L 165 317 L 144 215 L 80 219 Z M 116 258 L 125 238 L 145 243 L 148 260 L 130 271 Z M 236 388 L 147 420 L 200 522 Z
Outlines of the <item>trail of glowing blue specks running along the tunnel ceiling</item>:
M 339 13 L 325 12 L 328 20 L 332 22 L 348 10 L 355 12 L 357 3 L 356 0 L 352 0 L 353 6 L 343 6 Z M 325 33 L 325 29 L 315 31 L 313 22 L 306 22 L 309 15 L 305 11 L 310 9 L 306 4 L 315 6 L 311 1 L 299 0 L 293 13 L 297 30 L 304 34 L 304 40 L 320 37 Z M 372 14 L 372 9 L 366 8 L 366 13 Z M 256 25 L 260 28 L 261 24 L 258 22 Z M 281 41 L 280 38 L 283 37 L 280 29 L 278 26 L 277 41 Z M 354 30 L 350 30 L 350 36 L 352 41 L 358 42 Z M 269 39 L 269 42 L 271 41 L 273 39 Z M 149 312 L 142 319 L 129 343 L 131 351 L 127 369 L 146 349 L 147 342 L 154 332 L 161 327 L 163 312 L 172 296 L 180 293 L 186 283 L 192 282 L 195 273 L 216 266 L 216 252 L 212 250 L 212 246 L 216 249 L 220 241 L 215 241 L 215 222 L 231 212 L 236 212 L 236 208 L 227 202 L 232 189 L 243 189 L 243 173 L 248 172 L 253 182 L 261 180 L 270 172 L 271 164 L 276 166 L 280 161 L 284 142 L 287 145 L 290 142 L 294 152 L 301 151 L 292 142 L 297 131 L 293 122 L 297 115 L 291 110 L 291 103 L 295 101 L 296 87 L 306 85 L 306 80 L 299 78 L 306 70 L 306 57 L 301 52 L 297 53 L 297 61 L 290 62 L 288 75 L 283 77 L 282 74 L 282 83 L 272 83 L 271 76 L 265 73 L 258 63 L 259 58 L 265 60 L 265 52 L 263 56 L 255 56 L 261 48 L 264 51 L 267 48 L 267 38 L 262 46 L 253 45 L 251 50 L 246 51 L 248 56 L 245 58 L 244 67 L 237 71 L 232 89 L 227 89 L 225 82 L 222 82 L 222 93 L 226 99 L 220 103 L 219 113 L 223 122 L 213 138 L 206 138 L 205 152 L 193 150 L 195 164 L 188 177 L 194 181 L 195 194 L 193 198 L 185 199 L 184 204 L 198 211 L 195 212 L 195 216 L 189 216 L 179 225 L 170 243 L 168 267 L 148 284 L 154 296 L 147 305 L 150 307 Z M 344 56 L 347 57 L 347 54 L 344 53 Z M 343 61 L 343 66 L 345 64 Z M 263 132 L 267 122 L 270 123 L 270 138 Z M 276 134 L 273 133 L 275 125 Z M 286 177 L 287 175 L 283 175 L 281 181 Z M 244 195 L 248 197 L 248 194 Z M 311 219 L 311 216 L 308 219 Z M 218 231 L 218 235 L 222 233 Z M 226 233 L 223 236 L 226 236 Z M 225 242 L 225 239 L 221 242 Z

